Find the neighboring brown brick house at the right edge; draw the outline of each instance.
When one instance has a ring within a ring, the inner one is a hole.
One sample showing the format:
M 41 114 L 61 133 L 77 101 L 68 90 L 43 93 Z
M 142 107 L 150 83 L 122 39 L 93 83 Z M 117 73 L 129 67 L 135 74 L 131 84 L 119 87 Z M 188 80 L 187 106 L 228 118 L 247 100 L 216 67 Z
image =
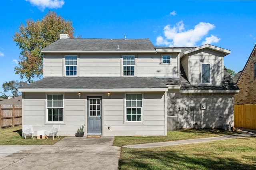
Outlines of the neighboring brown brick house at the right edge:
M 240 92 L 235 94 L 234 105 L 256 104 L 256 45 L 236 84 Z

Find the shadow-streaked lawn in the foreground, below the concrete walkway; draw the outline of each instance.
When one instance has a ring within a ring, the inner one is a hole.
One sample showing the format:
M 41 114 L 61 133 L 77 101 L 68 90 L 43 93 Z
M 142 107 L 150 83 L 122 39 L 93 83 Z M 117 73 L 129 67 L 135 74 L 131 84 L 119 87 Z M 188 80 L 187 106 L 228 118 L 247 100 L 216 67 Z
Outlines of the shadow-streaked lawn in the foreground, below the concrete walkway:
M 148 149 L 122 148 L 120 170 L 255 170 L 256 137 Z

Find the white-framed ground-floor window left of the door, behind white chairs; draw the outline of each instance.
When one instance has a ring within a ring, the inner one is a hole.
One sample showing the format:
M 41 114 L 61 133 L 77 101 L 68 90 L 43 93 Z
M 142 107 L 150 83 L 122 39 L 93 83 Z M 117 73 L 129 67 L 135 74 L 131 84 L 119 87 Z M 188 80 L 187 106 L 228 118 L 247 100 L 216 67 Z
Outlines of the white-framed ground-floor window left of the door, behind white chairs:
M 63 94 L 47 94 L 47 122 L 63 122 Z

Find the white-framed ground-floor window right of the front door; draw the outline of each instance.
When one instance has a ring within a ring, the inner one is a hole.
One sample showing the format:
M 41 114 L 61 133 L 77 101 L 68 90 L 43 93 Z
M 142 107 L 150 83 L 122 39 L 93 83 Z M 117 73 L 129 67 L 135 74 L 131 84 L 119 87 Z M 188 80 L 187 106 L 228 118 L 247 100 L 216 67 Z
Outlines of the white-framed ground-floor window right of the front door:
M 142 94 L 126 94 L 126 122 L 142 122 Z

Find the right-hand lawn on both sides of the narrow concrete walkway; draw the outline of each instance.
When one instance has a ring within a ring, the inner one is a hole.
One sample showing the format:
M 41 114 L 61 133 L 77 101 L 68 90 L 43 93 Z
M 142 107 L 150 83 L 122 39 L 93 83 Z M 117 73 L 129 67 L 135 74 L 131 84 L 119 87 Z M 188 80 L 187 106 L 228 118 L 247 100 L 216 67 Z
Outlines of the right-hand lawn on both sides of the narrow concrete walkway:
M 113 145 L 176 141 L 242 133 L 216 129 L 168 131 L 167 137 L 115 137 Z M 256 137 L 198 144 L 129 149 L 122 147 L 120 170 L 255 170 Z

